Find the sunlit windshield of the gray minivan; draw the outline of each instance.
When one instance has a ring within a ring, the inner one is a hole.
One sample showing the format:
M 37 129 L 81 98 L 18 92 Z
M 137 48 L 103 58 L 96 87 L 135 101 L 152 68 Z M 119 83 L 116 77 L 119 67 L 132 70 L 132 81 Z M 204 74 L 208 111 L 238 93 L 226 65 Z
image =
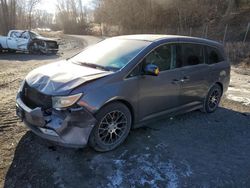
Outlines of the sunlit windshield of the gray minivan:
M 70 59 L 82 65 L 97 65 L 116 71 L 126 66 L 150 42 L 140 40 L 106 39 Z

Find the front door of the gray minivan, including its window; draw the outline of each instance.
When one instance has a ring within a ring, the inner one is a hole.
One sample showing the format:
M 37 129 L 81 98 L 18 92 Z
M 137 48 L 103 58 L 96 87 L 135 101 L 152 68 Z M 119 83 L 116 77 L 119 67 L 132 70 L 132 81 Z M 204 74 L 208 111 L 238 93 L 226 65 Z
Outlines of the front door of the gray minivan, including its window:
M 142 61 L 157 65 L 158 76 L 142 75 L 139 80 L 139 117 L 146 120 L 179 106 L 181 72 L 175 69 L 176 46 L 162 45 L 153 50 Z M 143 69 L 143 68 L 142 68 Z

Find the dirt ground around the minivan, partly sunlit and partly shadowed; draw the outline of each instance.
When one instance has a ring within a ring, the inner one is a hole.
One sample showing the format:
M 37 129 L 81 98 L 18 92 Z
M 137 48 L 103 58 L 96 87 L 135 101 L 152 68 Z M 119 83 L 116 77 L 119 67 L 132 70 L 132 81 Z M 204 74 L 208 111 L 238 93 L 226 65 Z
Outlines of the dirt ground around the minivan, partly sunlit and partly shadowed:
M 216 113 L 155 120 L 108 153 L 38 138 L 15 116 L 20 81 L 32 69 L 97 42 L 60 36 L 58 55 L 0 54 L 0 187 L 249 187 L 250 74 L 233 68 Z

